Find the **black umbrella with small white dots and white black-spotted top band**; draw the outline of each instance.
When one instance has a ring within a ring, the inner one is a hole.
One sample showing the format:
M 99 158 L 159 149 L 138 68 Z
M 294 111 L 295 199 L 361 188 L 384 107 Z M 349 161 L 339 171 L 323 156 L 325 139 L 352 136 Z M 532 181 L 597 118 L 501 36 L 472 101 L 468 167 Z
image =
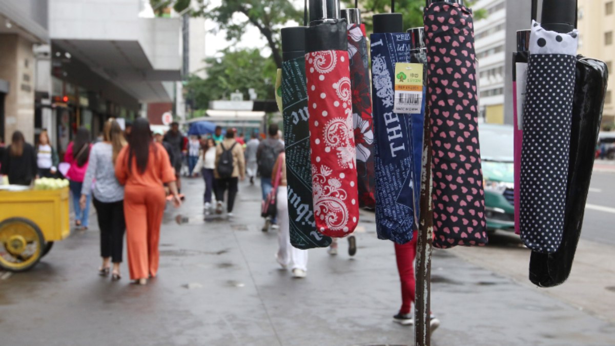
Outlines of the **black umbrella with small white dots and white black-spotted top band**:
M 523 115 L 520 231 L 533 251 L 560 246 L 573 111 L 576 30 L 561 34 L 532 24 Z

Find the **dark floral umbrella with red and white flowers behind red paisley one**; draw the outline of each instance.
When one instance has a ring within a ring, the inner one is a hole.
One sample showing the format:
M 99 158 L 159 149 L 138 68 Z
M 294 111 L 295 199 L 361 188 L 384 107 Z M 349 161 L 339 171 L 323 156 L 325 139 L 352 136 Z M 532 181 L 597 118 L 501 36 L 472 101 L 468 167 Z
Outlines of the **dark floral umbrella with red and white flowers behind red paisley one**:
M 341 14 L 348 23 L 352 127 L 354 128 L 354 141 L 357 151 L 359 206 L 374 209 L 376 207 L 374 132 L 371 118 L 371 86 L 367 38 L 361 28 L 361 12 L 359 9 L 342 10 Z

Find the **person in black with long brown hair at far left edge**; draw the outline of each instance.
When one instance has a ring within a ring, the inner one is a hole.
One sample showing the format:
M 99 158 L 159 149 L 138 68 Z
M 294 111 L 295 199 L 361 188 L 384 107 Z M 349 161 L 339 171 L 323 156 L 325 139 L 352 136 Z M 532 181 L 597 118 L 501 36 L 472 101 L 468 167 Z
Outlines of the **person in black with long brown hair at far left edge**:
M 36 153 L 34 147 L 23 138 L 21 131 L 13 132 L 8 148 L 4 150 L 0 172 L 7 175 L 9 184 L 28 186 L 36 178 Z

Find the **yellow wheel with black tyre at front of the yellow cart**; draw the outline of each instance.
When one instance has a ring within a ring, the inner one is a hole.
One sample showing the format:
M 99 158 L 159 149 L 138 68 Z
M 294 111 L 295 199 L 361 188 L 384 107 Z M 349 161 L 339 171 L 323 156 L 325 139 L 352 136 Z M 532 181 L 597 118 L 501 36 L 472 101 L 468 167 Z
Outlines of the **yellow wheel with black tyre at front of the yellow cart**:
M 41 259 L 44 244 L 45 238 L 36 223 L 23 217 L 0 222 L 0 267 L 9 272 L 25 272 Z

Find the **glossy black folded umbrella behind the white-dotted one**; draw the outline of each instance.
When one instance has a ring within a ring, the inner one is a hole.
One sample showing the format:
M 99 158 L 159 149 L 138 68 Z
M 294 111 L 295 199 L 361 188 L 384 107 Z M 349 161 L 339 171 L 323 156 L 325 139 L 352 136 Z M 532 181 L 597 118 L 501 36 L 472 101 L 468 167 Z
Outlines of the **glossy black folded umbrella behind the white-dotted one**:
M 530 281 L 541 287 L 563 283 L 572 269 L 592 177 L 607 81 L 604 62 L 577 59 L 562 241 L 557 251 L 551 254 L 533 251 L 530 257 Z

